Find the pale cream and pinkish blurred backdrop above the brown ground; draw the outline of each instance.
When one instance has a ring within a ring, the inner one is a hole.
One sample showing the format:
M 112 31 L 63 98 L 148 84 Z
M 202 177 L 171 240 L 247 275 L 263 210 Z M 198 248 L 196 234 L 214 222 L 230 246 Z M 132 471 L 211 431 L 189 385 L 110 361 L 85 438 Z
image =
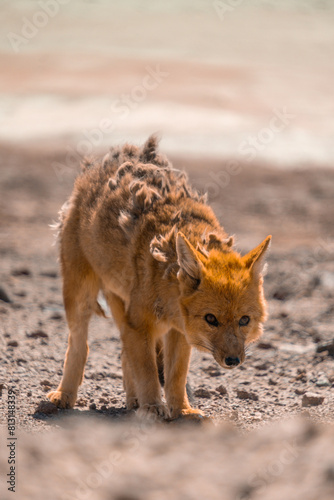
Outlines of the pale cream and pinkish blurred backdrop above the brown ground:
M 329 0 L 2 0 L 0 137 L 81 154 L 156 131 L 168 153 L 205 159 L 247 159 L 253 137 L 258 159 L 331 165 L 333 11 Z

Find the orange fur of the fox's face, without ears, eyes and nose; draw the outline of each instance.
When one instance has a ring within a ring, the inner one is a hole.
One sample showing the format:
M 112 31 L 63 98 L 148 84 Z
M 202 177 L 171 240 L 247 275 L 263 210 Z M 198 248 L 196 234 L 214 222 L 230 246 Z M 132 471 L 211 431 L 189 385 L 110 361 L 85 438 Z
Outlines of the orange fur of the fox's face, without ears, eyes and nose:
M 202 280 L 198 289 L 181 298 L 188 341 L 212 352 L 216 361 L 226 367 L 228 356 L 245 358 L 245 345 L 262 333 L 266 317 L 261 275 L 252 273 L 245 259 L 236 252 L 211 250 L 203 263 Z M 211 326 L 206 314 L 213 314 L 219 326 Z M 240 327 L 242 316 L 250 323 Z

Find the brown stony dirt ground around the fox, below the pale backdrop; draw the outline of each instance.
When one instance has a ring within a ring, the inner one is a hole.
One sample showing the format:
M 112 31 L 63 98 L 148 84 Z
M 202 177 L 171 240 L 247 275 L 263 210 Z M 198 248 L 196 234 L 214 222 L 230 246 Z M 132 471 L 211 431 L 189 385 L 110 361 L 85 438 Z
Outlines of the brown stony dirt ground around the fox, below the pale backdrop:
M 37 411 L 60 380 L 67 338 L 48 224 L 74 171 L 60 181 L 55 160 L 64 153 L 2 147 L 0 415 L 7 438 L 7 392 L 15 387 L 18 498 L 333 498 L 334 172 L 240 165 L 228 185 L 210 186 L 210 202 L 241 252 L 273 235 L 269 319 L 240 368 L 227 372 L 194 353 L 193 404 L 216 425 L 188 428 L 126 414 L 112 318 L 92 320 L 75 409 Z M 226 178 L 226 162 L 173 163 L 198 188 L 209 187 L 208 169 Z M 5 471 L 5 446 L 1 457 Z M 1 498 L 12 498 L 1 480 Z

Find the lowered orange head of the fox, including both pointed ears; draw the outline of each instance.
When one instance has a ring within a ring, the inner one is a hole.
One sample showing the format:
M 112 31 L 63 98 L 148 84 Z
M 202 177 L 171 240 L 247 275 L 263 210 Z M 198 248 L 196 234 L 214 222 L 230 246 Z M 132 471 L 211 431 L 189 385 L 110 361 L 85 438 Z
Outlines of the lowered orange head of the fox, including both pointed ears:
M 266 319 L 263 295 L 265 253 L 271 236 L 245 256 L 196 250 L 178 233 L 180 309 L 189 344 L 210 351 L 224 368 L 245 359 L 245 347 L 260 337 Z

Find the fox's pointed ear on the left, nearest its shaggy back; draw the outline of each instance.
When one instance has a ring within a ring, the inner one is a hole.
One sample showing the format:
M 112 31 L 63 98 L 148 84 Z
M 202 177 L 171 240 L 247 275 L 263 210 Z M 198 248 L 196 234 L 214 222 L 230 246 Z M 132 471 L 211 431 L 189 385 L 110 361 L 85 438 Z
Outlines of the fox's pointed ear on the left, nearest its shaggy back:
M 187 238 L 180 232 L 176 236 L 176 253 L 180 270 L 177 274 L 179 280 L 189 279 L 192 285 L 199 285 L 202 278 L 202 263 L 196 255 L 196 250 Z

